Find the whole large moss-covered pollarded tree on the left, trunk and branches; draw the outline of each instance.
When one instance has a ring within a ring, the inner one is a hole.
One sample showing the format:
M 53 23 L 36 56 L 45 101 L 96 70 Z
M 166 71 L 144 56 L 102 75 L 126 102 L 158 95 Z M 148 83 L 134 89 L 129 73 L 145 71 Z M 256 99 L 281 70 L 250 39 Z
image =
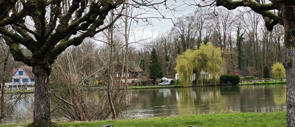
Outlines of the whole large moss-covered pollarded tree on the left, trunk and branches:
M 13 11 L 10 12 L 11 15 L 6 15 L 9 20 L 5 25 L 13 26 L 13 31 L 1 27 L 0 34 L 10 47 L 14 59 L 32 66 L 35 75 L 34 117 L 29 127 L 52 124 L 50 85 L 47 80 L 52 64 L 59 54 L 67 47 L 77 46 L 85 38 L 94 37 L 97 33 L 110 28 L 122 16 L 124 4 L 149 9 L 157 9 L 156 5 L 165 4 L 165 1 L 134 0 L 135 4 L 124 2 L 124 0 L 73 0 L 72 2 L 33 0 L 20 1 L 16 8 L 9 9 Z M 112 9 L 117 10 L 113 13 L 113 21 L 104 24 L 106 16 Z M 26 17 L 26 19 L 16 20 L 19 21 L 16 23 L 11 21 L 14 17 Z M 32 56 L 24 55 L 19 49 L 19 44 L 30 50 Z

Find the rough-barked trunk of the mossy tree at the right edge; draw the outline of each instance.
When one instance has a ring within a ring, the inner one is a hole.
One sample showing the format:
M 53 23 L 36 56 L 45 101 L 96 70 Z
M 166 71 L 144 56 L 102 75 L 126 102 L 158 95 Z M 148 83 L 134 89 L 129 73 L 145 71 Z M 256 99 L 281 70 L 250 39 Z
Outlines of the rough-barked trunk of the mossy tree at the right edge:
M 294 4 L 290 3 L 290 4 Z M 289 5 L 289 4 L 285 4 Z M 295 13 L 294 7 L 281 6 L 285 26 L 285 60 L 283 65 L 287 78 L 287 127 L 295 126 Z

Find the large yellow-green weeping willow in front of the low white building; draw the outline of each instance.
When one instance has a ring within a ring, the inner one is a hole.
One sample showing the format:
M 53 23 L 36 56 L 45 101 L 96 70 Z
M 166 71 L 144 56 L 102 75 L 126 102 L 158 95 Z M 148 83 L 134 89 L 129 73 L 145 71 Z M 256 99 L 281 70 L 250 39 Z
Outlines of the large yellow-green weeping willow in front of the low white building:
M 220 48 L 212 46 L 211 43 L 202 44 L 199 49 L 188 49 L 176 58 L 175 70 L 179 73 L 179 86 L 191 86 L 189 78 L 197 73 L 199 79 L 202 70 L 210 73 L 210 79 L 215 84 L 223 72 L 223 65 Z

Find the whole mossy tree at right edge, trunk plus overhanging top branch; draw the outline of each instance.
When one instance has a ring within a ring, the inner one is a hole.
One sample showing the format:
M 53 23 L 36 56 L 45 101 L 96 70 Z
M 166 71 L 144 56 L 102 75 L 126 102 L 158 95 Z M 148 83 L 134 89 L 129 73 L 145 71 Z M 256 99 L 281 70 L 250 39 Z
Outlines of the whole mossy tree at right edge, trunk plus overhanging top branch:
M 263 1 L 263 2 L 262 2 Z M 293 127 L 295 125 L 295 106 L 293 100 L 295 99 L 294 73 L 295 73 L 295 50 L 294 50 L 294 1 L 270 0 L 269 3 L 264 0 L 205 0 L 203 5 L 198 6 L 224 6 L 229 10 L 236 9 L 240 6 L 250 7 L 254 12 L 267 17 L 265 26 L 267 30 L 272 31 L 273 27 L 281 24 L 285 27 L 285 60 L 283 61 L 287 74 L 287 126 Z M 197 5 L 197 4 L 195 4 Z M 273 13 L 270 10 L 278 10 L 278 13 Z

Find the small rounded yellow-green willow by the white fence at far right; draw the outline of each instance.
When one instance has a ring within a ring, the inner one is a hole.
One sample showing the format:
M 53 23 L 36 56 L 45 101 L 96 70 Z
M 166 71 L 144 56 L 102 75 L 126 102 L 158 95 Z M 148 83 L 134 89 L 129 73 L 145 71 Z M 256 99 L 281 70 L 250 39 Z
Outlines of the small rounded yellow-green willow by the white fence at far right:
M 286 78 L 286 70 L 281 62 L 273 64 L 271 67 L 271 73 L 273 78 Z

